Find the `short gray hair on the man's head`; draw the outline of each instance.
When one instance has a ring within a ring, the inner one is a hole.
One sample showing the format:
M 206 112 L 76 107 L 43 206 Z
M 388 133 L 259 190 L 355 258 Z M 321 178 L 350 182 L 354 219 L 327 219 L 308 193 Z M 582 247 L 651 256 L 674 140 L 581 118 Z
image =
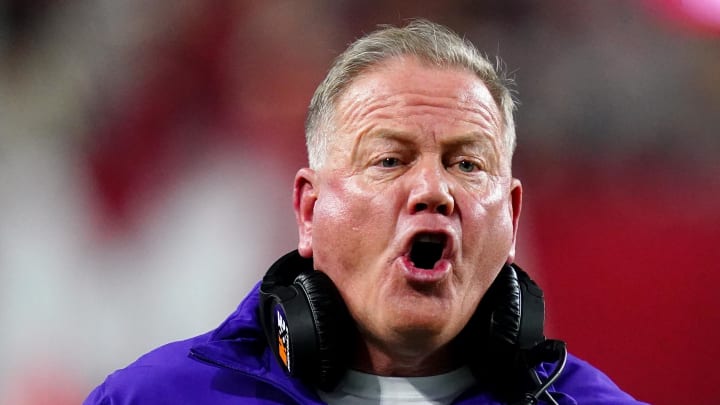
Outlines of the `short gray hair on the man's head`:
M 515 150 L 515 101 L 510 81 L 480 54 L 473 44 L 447 27 L 417 19 L 398 28 L 381 26 L 353 42 L 333 62 L 325 79 L 315 90 L 305 120 L 305 137 L 310 167 L 324 163 L 328 138 L 332 132 L 335 107 L 343 91 L 363 71 L 380 62 L 400 56 L 414 56 L 421 62 L 439 67 L 468 69 L 487 86 L 503 117 L 506 150 Z

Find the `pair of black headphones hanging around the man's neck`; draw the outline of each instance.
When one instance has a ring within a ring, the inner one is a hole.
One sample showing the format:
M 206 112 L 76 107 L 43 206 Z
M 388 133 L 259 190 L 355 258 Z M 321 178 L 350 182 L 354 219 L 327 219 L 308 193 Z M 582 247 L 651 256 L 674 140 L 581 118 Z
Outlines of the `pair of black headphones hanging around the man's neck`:
M 558 357 L 549 353 L 556 348 L 543 348 L 557 342 L 545 339 L 544 318 L 540 287 L 516 265 L 504 266 L 458 337 L 479 381 L 507 399 L 530 395 L 539 383 L 532 369 Z M 324 391 L 337 385 L 357 333 L 337 288 L 312 259 L 295 250 L 270 267 L 260 286 L 260 320 L 290 375 Z

